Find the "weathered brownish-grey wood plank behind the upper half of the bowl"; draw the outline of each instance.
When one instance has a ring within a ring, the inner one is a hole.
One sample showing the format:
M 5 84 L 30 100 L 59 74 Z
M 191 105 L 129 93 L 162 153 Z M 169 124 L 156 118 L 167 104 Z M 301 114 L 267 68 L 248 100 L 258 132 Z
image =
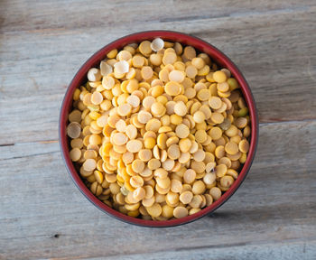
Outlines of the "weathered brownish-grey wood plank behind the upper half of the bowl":
M 253 89 L 261 122 L 316 118 L 315 17 L 311 7 L 234 19 L 153 19 L 132 30 L 93 23 L 88 30 L 0 34 L 0 121 L 9 122 L 0 127 L 0 144 L 57 140 L 60 103 L 80 64 L 107 42 L 149 29 L 188 32 L 227 53 Z

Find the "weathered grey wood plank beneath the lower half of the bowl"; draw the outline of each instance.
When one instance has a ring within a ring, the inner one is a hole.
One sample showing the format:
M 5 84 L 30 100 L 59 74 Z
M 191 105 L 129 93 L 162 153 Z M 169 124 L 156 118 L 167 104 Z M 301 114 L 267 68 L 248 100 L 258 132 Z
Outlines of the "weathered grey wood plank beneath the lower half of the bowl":
M 36 144 L 43 154 L 35 153 L 33 144 L 30 152 L 21 145 L 10 151 L 0 146 L 1 154 L 24 153 L 0 160 L 5 169 L 0 172 L 0 259 L 166 259 L 162 252 L 169 259 L 189 254 L 205 259 L 213 251 L 215 259 L 225 249 L 224 255 L 235 252 L 246 259 L 262 259 L 266 252 L 311 259 L 316 254 L 315 135 L 315 120 L 261 125 L 256 161 L 223 207 L 188 225 L 155 229 L 122 223 L 91 205 L 70 181 L 56 143 Z

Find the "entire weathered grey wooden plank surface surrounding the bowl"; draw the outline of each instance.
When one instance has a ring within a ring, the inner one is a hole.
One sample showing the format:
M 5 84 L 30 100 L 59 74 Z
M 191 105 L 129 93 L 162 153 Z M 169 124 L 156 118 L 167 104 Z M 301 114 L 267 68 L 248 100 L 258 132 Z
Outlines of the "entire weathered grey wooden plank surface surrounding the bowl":
M 0 259 L 315 259 L 315 1 L 0 0 Z M 256 160 L 213 215 L 139 228 L 91 205 L 60 157 L 70 80 L 108 42 L 152 29 L 224 51 L 253 89 Z

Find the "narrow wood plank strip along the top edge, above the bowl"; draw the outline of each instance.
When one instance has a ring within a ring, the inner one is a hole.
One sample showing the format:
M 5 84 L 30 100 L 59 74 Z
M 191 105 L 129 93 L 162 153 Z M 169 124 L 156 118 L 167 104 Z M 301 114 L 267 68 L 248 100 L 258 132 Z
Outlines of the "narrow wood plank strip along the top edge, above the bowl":
M 129 25 L 146 26 L 144 23 L 164 23 L 191 21 L 201 18 L 245 16 L 264 12 L 307 11 L 315 3 L 302 1 L 249 1 L 236 3 L 233 0 L 203 1 L 101 1 L 86 5 L 86 1 L 23 1 L 14 0 L 3 3 L 0 10 L 2 26 L 0 32 L 20 32 L 32 30 L 72 30 L 95 27 L 121 27 Z M 140 8 L 142 11 L 140 11 Z M 71 12 L 70 12 L 71 10 Z M 141 14 L 141 15 L 137 15 Z M 84 19 L 83 19 L 84 17 Z M 137 19 L 135 19 L 137 17 Z M 66 18 L 66 19 L 65 19 Z

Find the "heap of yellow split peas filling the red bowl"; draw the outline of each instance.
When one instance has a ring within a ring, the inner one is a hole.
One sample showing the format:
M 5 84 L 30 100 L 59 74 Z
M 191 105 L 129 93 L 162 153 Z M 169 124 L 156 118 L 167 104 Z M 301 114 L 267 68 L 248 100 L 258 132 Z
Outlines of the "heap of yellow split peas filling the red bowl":
M 218 200 L 246 162 L 237 80 L 179 42 L 112 50 L 73 94 L 70 158 L 99 200 L 128 216 L 183 218 Z

